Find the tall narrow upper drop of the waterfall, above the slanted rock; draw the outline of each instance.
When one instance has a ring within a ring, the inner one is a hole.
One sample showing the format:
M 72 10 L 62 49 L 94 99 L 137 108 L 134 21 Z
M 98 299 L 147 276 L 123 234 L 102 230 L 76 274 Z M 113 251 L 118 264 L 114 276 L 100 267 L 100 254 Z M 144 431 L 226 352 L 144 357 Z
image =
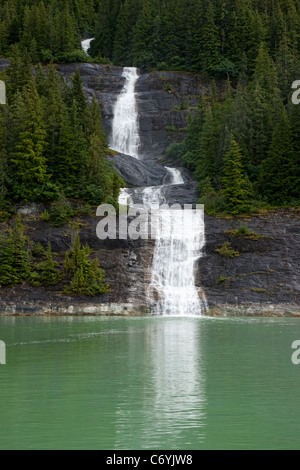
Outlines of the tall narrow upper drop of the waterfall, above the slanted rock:
M 110 147 L 120 153 L 139 158 L 139 126 L 135 97 L 135 84 L 138 79 L 135 67 L 124 67 L 125 84 L 116 102 Z

